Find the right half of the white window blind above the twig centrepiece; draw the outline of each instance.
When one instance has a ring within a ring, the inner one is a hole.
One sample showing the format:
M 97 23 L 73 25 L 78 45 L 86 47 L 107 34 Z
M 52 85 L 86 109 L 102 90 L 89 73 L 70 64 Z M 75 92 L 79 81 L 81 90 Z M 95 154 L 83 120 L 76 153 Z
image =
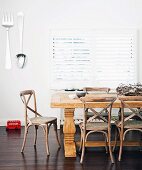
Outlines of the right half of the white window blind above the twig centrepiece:
M 94 42 L 96 82 L 108 87 L 137 82 L 136 31 L 96 31 Z

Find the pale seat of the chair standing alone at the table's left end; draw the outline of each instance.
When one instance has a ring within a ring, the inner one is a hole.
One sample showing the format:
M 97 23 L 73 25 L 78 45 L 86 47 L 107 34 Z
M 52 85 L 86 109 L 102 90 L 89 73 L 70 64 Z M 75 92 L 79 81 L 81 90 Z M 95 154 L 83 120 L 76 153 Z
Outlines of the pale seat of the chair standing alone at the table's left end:
M 30 118 L 30 121 L 33 124 L 46 124 L 56 119 L 57 119 L 56 117 L 34 117 L 34 118 Z

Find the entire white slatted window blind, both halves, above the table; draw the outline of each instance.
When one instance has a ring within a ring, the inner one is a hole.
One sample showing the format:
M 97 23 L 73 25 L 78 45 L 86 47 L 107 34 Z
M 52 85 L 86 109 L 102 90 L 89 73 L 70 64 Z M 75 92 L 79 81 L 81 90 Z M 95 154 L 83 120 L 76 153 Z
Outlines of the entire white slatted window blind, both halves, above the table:
M 130 29 L 53 30 L 53 81 L 63 88 L 137 82 L 136 38 Z

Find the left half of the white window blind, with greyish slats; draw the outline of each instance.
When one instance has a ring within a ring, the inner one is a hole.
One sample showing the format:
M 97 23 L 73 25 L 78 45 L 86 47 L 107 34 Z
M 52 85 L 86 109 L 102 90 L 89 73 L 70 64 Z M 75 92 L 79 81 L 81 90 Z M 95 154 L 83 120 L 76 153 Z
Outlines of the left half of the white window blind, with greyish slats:
M 87 37 L 54 36 L 52 50 L 54 79 L 90 79 L 90 42 Z

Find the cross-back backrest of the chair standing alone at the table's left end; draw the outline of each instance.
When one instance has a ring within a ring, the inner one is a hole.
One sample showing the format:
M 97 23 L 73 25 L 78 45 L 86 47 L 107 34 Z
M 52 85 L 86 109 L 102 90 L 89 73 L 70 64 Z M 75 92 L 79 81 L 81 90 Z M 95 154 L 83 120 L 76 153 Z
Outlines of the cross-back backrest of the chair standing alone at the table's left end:
M 20 97 L 21 100 L 24 104 L 24 108 L 25 108 L 25 121 L 27 123 L 28 119 L 29 119 L 29 111 L 34 113 L 34 116 L 41 116 L 38 112 L 37 112 L 37 105 L 36 105 L 36 95 L 35 95 L 35 91 L 34 90 L 24 90 L 20 92 Z

